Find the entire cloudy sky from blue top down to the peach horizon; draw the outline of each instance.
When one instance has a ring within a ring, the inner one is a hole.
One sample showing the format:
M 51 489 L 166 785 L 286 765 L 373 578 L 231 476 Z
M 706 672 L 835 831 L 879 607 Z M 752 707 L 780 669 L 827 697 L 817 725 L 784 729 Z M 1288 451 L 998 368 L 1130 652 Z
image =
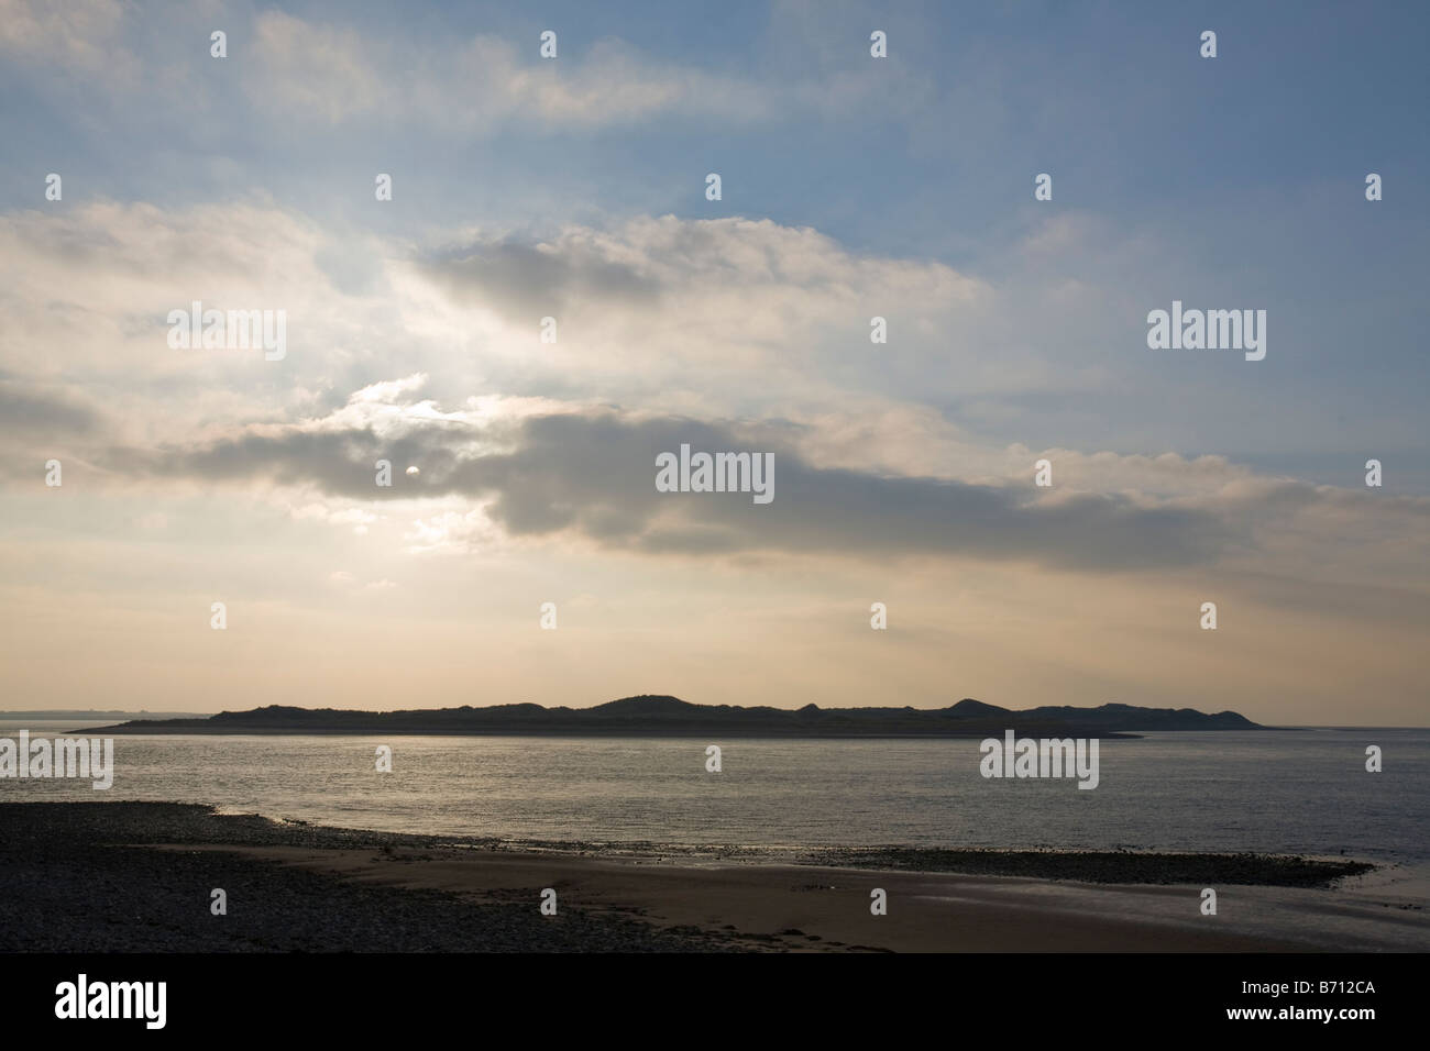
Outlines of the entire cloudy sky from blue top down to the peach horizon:
M 1427 29 L 0 0 L 6 706 L 1426 725 Z M 285 356 L 170 347 L 194 300 Z M 1266 359 L 1148 349 L 1173 300 Z M 681 443 L 774 500 L 656 492 Z

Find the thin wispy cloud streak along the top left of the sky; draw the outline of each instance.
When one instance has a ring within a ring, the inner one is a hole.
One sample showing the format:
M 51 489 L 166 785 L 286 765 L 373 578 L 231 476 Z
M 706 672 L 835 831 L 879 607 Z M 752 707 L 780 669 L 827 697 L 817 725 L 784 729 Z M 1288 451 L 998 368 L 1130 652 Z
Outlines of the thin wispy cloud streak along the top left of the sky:
M 276 9 L 250 14 L 219 0 L 149 7 L 0 0 L 0 54 L 29 64 L 33 80 L 37 69 L 53 89 L 97 104 L 146 92 L 160 104 L 150 109 L 203 113 L 227 104 L 207 53 L 209 31 L 222 26 L 242 92 L 269 127 L 365 130 L 386 120 L 458 137 L 579 133 L 662 117 L 744 126 L 872 113 L 887 122 L 911 119 L 938 97 L 934 79 L 907 63 L 865 60 L 851 69 L 825 56 L 807 67 L 809 54 L 799 49 L 768 56 L 765 71 L 725 70 L 616 36 L 573 33 L 561 37 L 559 59 L 548 60 L 523 20 L 519 37 L 486 19 L 493 31 L 432 40 L 396 16 L 359 26 Z M 809 16 L 775 37 L 808 36 L 822 20 Z

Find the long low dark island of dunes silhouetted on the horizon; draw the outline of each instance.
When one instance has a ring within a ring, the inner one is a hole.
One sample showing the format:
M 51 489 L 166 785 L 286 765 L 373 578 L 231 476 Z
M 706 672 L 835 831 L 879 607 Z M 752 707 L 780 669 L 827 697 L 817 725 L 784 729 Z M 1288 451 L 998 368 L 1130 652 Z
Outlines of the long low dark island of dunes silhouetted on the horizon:
M 360 712 L 339 708 L 267 705 L 219 712 L 207 719 L 147 719 L 104 726 L 113 734 L 571 734 L 728 736 L 1118 736 L 1147 729 L 1258 729 L 1236 712 L 1207 715 L 1191 708 L 1032 708 L 1010 711 L 964 698 L 948 708 L 788 708 L 694 705 L 674 696 L 641 695 L 595 708 L 428 708 Z

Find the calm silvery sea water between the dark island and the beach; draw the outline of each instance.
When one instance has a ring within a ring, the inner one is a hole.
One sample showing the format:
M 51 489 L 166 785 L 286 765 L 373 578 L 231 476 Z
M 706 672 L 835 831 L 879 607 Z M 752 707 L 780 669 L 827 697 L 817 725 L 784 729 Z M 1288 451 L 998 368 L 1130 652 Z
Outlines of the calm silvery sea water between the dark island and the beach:
M 76 724 L 26 725 L 33 735 Z M 0 736 L 16 724 L 0 718 Z M 393 772 L 373 768 L 393 748 Z M 150 799 L 511 839 L 1291 851 L 1430 859 L 1430 731 L 1148 734 L 1101 784 L 992 781 L 977 741 L 117 736 L 114 786 L 0 779 L 0 801 Z M 1367 774 L 1366 745 L 1384 751 Z M 1420 865 L 1417 865 L 1419 868 Z

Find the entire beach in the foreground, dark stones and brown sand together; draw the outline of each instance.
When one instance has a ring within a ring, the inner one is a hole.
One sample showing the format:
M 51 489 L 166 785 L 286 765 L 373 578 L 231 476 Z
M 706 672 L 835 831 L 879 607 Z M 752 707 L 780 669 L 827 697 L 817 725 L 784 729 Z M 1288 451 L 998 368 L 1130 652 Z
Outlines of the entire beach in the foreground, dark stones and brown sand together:
M 1207 875 L 1217 915 L 1200 908 L 1207 884 L 1195 877 Z M 226 915 L 210 912 L 216 888 Z M 555 915 L 539 908 L 548 888 Z M 884 915 L 871 912 L 877 889 Z M 0 804 L 0 895 L 10 952 L 1273 952 L 1430 941 L 1420 899 L 1354 859 L 513 844 L 156 802 Z

